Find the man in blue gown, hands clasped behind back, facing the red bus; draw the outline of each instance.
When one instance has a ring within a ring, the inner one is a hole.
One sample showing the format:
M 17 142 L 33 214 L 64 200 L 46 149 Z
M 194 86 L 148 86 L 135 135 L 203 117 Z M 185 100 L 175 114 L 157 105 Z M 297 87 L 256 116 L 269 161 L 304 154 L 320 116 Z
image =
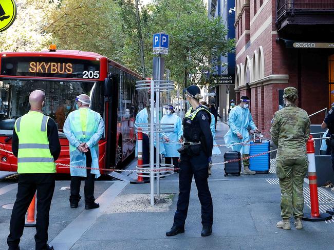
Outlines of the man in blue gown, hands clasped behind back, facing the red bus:
M 76 209 L 80 201 L 80 183 L 85 180 L 85 209 L 96 209 L 94 182 L 101 174 L 99 171 L 99 140 L 104 133 L 104 121 L 98 112 L 89 108 L 88 95 L 81 94 L 76 98 L 77 110 L 67 116 L 64 123 L 64 134 L 69 141 L 71 172 L 71 209 Z M 84 166 L 90 169 L 76 168 Z

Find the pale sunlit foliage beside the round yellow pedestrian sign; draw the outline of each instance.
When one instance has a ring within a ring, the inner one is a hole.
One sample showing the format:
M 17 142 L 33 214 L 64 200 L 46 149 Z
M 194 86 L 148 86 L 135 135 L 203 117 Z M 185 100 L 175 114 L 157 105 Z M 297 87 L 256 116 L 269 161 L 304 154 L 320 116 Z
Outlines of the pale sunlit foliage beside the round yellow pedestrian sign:
M 13 25 L 0 33 L 2 51 L 36 51 L 51 43 L 52 34 L 44 30 L 59 1 L 16 0 L 17 16 Z

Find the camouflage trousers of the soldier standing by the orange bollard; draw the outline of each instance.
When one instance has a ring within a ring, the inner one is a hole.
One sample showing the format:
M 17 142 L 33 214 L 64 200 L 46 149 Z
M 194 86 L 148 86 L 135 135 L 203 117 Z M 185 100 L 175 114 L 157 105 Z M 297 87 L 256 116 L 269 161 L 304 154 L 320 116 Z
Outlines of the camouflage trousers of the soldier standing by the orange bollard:
M 281 186 L 281 217 L 303 217 L 303 183 L 307 172 L 307 159 L 276 160 L 276 174 Z

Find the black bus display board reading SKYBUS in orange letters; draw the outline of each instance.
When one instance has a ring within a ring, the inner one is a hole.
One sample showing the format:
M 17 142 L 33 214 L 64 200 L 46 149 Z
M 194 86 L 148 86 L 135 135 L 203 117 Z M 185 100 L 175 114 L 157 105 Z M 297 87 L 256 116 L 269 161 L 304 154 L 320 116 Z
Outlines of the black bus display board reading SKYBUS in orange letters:
M 99 79 L 100 61 L 59 57 L 2 57 L 1 75 Z

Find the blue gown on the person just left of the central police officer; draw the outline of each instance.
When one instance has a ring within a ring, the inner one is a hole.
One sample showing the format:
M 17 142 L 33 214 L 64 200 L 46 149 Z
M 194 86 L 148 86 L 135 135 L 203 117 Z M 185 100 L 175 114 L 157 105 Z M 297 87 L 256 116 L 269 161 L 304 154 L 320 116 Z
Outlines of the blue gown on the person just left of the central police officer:
M 165 157 L 179 157 L 180 153 L 177 152 L 179 148 L 181 148 L 181 144 L 175 143 L 178 142 L 181 138 L 183 131 L 182 131 L 182 122 L 181 118 L 175 114 L 164 115 L 161 118 L 160 123 L 173 123 L 174 124 L 174 131 L 173 132 L 166 132 L 161 133 L 162 138 L 167 136 L 173 142 L 165 142 L 163 140 L 163 145 L 165 149 Z

